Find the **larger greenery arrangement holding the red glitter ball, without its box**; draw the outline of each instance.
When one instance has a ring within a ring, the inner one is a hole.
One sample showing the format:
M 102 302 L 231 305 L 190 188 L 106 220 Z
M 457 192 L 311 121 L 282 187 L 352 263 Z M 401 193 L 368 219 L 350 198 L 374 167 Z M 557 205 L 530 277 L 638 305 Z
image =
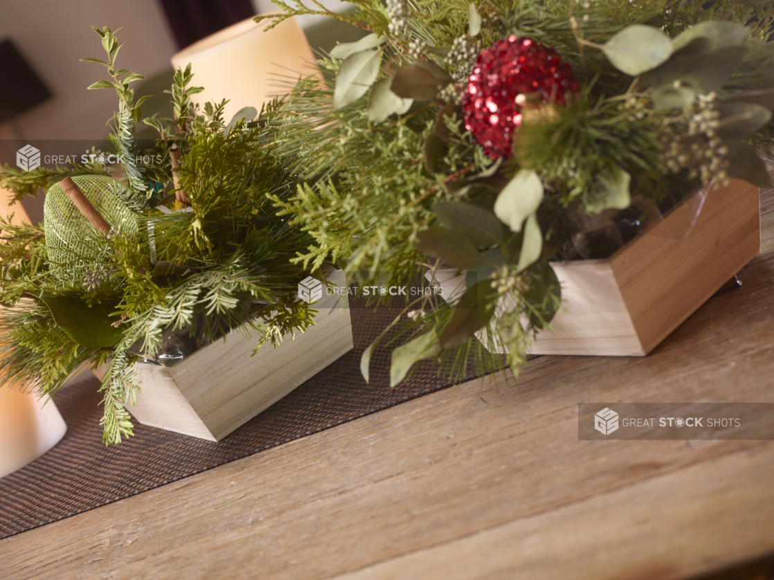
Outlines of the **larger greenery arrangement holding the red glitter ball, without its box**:
M 274 198 L 313 238 L 294 263 L 334 261 L 365 284 L 466 275 L 461 295 L 406 303 L 399 332 L 365 351 L 366 379 L 382 342 L 393 385 L 423 359 L 454 377 L 471 355 L 516 370 L 560 307 L 550 261 L 609 255 L 729 177 L 769 183 L 770 2 L 276 4 L 255 20 L 314 13 L 368 31 L 318 61 L 333 83 L 302 80 L 269 115 L 304 179 Z

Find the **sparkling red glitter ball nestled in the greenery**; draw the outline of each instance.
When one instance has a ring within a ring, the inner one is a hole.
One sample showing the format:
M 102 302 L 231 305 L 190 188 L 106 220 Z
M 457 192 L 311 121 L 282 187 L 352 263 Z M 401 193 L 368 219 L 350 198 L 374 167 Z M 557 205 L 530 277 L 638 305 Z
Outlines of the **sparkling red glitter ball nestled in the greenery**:
M 556 50 L 509 36 L 478 55 L 462 97 L 465 128 L 492 159 L 508 157 L 522 122 L 515 101 L 519 94 L 536 93 L 543 103 L 564 104 L 564 92 L 579 88 Z

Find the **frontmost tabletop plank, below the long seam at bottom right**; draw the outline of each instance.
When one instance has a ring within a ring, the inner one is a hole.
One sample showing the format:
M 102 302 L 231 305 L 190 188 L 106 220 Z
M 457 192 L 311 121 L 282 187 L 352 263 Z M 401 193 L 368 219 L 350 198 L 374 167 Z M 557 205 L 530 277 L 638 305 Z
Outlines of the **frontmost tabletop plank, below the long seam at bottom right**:
M 771 548 L 772 481 L 774 443 L 765 442 L 336 578 L 687 578 Z

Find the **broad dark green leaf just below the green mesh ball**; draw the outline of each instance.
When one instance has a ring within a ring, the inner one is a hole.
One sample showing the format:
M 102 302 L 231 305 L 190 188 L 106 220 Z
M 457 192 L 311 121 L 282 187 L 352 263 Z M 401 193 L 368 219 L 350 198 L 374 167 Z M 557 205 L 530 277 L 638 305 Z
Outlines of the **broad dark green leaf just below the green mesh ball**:
M 118 316 L 110 316 L 115 312 L 115 305 L 95 303 L 90 308 L 78 296 L 55 296 L 47 292 L 37 298 L 48 306 L 57 326 L 80 346 L 113 346 L 122 337 L 122 331 L 111 326 L 118 320 Z

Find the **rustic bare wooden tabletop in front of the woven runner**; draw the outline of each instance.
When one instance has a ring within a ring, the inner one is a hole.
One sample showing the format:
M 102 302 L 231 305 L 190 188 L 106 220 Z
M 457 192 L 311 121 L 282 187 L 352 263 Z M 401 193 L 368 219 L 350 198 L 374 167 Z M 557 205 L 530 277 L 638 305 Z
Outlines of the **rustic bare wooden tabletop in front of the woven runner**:
M 774 442 L 579 441 L 581 401 L 774 403 L 761 254 L 646 358 L 540 357 L 0 541 L 2 578 L 688 578 L 774 551 Z M 230 502 L 230 503 L 229 503 Z

